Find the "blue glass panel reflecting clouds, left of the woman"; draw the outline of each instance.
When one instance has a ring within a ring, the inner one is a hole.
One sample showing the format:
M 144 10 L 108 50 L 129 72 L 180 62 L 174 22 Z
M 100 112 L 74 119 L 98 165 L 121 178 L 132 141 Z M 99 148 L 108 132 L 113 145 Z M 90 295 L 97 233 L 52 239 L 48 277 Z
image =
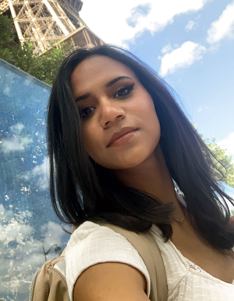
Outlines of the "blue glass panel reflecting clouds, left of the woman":
M 28 300 L 34 273 L 45 260 L 58 257 L 70 237 L 53 212 L 48 190 L 45 107 L 50 89 L 0 59 L 1 300 Z

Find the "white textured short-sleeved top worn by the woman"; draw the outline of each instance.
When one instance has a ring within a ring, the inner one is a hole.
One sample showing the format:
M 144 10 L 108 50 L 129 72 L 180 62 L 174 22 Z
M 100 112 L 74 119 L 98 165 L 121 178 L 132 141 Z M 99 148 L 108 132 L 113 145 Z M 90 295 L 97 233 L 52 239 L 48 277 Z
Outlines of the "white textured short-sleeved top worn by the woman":
M 164 243 L 161 230 L 155 225 L 151 226 L 150 231 L 165 265 L 167 301 L 234 301 L 234 281 L 232 284 L 226 283 L 199 268 L 185 258 L 170 240 Z M 145 275 L 149 297 L 149 273 L 136 249 L 121 234 L 87 221 L 71 235 L 65 260 L 55 265 L 67 280 L 71 301 L 77 278 L 86 268 L 100 262 L 123 262 L 139 269 Z

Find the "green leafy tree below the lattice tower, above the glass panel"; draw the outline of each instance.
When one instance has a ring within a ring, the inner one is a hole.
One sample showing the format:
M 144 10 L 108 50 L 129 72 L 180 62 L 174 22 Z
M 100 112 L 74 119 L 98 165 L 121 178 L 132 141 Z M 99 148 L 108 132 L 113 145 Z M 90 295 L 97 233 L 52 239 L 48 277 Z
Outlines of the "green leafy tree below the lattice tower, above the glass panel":
M 0 58 L 28 74 L 52 85 L 61 62 L 67 53 L 75 48 L 74 43 L 61 42 L 56 48 L 54 43 L 48 46 L 43 55 L 33 52 L 30 38 L 25 42 L 15 42 L 15 32 L 12 29 L 13 19 L 0 14 Z

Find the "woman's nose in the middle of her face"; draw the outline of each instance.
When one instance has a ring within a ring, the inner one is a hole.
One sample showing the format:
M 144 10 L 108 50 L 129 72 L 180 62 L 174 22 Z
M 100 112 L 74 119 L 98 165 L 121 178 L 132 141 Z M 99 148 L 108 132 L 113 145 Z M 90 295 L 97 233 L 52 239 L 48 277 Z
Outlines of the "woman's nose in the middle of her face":
M 101 110 L 101 126 L 105 128 L 111 123 L 115 123 L 118 119 L 123 119 L 126 115 L 120 105 L 120 102 L 108 99 L 108 101 L 100 102 Z

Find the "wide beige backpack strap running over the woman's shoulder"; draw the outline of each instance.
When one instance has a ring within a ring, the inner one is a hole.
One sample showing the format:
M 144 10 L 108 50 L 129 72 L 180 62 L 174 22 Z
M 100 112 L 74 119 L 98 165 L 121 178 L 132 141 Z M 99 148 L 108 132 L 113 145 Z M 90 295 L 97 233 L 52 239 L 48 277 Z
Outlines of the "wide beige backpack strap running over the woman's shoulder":
M 150 275 L 150 300 L 167 301 L 167 277 L 166 271 L 154 237 L 149 231 L 139 233 L 126 230 L 122 227 L 107 222 L 96 222 L 98 225 L 111 228 L 121 234 L 138 251 Z

